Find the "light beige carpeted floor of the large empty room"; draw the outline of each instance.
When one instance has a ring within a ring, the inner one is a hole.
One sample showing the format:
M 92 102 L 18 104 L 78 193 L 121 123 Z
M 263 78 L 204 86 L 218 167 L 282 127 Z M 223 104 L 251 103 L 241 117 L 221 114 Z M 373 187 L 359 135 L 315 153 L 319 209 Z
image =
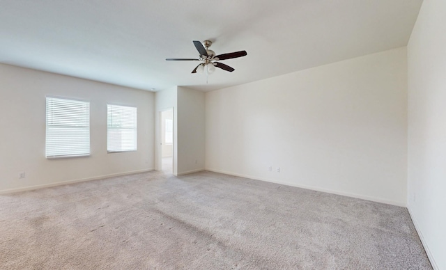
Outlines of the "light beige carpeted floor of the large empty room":
M 201 172 L 0 196 L 1 269 L 431 269 L 406 208 Z

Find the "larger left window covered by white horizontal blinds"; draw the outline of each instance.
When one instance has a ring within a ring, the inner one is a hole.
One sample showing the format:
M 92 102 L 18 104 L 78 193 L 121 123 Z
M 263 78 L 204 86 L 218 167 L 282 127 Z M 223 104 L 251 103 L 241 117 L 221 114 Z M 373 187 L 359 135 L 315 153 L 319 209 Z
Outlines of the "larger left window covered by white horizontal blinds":
M 90 103 L 47 97 L 46 157 L 90 155 Z

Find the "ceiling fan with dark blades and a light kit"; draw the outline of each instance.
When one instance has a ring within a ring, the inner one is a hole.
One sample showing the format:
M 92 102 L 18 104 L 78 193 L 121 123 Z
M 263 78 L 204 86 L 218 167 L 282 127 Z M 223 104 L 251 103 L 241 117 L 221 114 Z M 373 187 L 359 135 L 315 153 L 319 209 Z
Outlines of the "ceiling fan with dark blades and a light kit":
M 229 65 L 225 65 L 224 63 L 215 62 L 219 60 L 226 60 L 231 58 L 238 58 L 242 56 L 246 56 L 246 51 L 235 51 L 230 52 L 229 54 L 219 54 L 215 55 L 215 51 L 212 49 L 209 49 L 210 45 L 212 45 L 212 42 L 210 40 L 204 40 L 203 44 L 199 42 L 198 40 L 194 40 L 194 45 L 197 48 L 197 51 L 199 52 L 199 58 L 166 58 L 167 61 L 201 61 L 197 67 L 192 70 L 192 73 L 197 73 L 197 70 L 199 72 L 204 72 L 206 70 L 206 74 L 212 73 L 215 71 L 215 67 L 220 67 L 222 70 L 226 70 L 229 72 L 233 72 L 234 69 L 230 67 Z M 203 46 L 204 45 L 204 46 Z M 206 47 L 206 48 L 205 48 Z

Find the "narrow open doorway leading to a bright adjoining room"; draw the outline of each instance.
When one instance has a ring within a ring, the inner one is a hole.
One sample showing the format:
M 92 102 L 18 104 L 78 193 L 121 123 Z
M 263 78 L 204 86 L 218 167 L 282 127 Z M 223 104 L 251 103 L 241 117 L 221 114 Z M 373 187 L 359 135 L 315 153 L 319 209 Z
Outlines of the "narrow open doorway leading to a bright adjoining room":
M 174 110 L 160 111 L 160 170 L 174 173 Z

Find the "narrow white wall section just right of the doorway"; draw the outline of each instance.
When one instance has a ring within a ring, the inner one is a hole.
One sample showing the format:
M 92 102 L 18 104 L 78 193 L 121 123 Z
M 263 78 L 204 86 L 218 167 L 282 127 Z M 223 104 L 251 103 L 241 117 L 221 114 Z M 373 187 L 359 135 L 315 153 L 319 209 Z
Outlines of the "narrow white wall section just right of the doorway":
M 204 170 L 205 93 L 178 86 L 178 175 Z

